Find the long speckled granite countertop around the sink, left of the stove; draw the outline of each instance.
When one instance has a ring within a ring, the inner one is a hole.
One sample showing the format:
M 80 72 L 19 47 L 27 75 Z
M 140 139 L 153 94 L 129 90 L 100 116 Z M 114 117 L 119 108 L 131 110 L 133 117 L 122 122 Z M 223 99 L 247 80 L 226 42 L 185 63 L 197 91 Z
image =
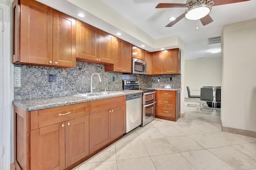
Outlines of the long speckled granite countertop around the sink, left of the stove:
M 77 104 L 83 102 L 90 102 L 94 100 L 101 100 L 106 98 L 126 96 L 128 94 L 142 93 L 142 90 L 120 90 L 118 94 L 110 94 L 105 96 L 95 96 L 95 97 L 80 97 L 76 94 L 70 96 L 59 96 L 59 97 L 50 97 L 50 98 L 33 98 L 33 99 L 22 99 L 14 100 L 12 104 L 18 106 L 26 111 L 41 110 L 47 108 L 54 108 L 58 106 L 65 106 L 70 104 Z

